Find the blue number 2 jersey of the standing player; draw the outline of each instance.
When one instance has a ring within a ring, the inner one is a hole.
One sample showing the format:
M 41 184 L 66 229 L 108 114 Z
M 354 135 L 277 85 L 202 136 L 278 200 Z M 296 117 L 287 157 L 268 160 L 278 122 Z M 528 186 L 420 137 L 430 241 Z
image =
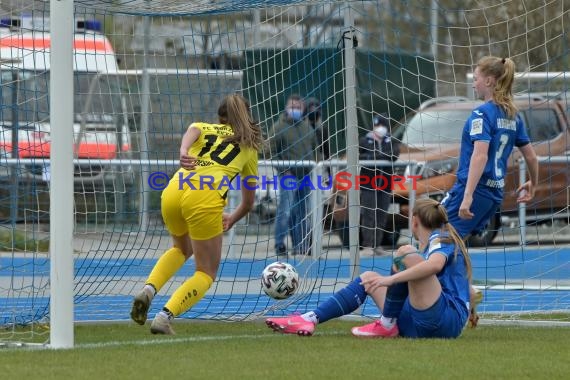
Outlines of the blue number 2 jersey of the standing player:
M 475 141 L 489 143 L 488 160 L 477 190 L 484 191 L 494 200 L 501 202 L 507 163 L 513 147 L 530 143 L 519 115 L 510 119 L 505 111 L 493 102 L 474 109 L 463 127 L 457 182 L 465 186 L 469 174 L 469 163 Z

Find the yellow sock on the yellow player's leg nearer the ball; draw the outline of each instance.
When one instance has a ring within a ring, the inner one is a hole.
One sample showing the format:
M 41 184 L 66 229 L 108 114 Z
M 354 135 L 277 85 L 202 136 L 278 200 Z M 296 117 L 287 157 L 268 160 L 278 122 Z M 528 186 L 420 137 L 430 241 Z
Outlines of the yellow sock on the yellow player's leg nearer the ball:
M 164 307 L 170 310 L 175 317 L 179 316 L 204 297 L 212 286 L 212 282 L 214 282 L 212 277 L 204 272 L 196 271 L 194 276 L 176 289 Z

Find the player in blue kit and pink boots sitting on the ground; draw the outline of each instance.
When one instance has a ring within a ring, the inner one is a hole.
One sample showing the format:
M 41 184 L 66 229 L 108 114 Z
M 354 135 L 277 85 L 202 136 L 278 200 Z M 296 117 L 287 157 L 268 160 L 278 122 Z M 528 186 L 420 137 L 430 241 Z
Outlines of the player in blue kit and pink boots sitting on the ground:
M 469 315 L 471 260 L 465 244 L 448 223 L 445 208 L 429 198 L 414 205 L 412 233 L 419 251 L 400 247 L 391 275 L 364 272 L 314 311 L 267 318 L 267 326 L 284 334 L 312 335 L 317 324 L 353 312 L 370 296 L 382 317 L 354 327 L 357 337 L 458 337 Z

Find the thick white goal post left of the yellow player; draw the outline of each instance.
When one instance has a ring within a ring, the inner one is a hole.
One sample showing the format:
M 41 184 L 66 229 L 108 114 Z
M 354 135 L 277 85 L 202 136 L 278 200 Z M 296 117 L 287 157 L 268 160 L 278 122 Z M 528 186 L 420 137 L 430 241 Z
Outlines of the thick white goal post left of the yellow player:
M 73 287 L 73 0 L 50 2 L 51 122 L 50 346 L 74 345 Z

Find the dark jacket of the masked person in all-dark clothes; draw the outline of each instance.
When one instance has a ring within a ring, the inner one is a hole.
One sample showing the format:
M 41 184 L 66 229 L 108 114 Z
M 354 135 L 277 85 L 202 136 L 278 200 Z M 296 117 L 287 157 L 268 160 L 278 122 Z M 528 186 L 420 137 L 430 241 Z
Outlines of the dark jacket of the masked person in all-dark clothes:
M 360 160 L 377 160 L 394 162 L 400 156 L 400 144 L 392 139 L 388 134 L 382 138 L 377 137 L 374 132 L 368 132 L 362 136 L 359 141 L 359 158 Z M 370 167 L 363 166 L 360 170 L 360 175 L 373 178 L 374 176 L 384 176 L 388 181 L 386 190 L 390 190 L 390 182 L 392 174 L 394 173 L 393 166 L 384 167 Z M 383 183 L 377 182 L 377 186 L 383 186 Z M 371 185 L 362 185 L 365 189 L 372 189 Z

